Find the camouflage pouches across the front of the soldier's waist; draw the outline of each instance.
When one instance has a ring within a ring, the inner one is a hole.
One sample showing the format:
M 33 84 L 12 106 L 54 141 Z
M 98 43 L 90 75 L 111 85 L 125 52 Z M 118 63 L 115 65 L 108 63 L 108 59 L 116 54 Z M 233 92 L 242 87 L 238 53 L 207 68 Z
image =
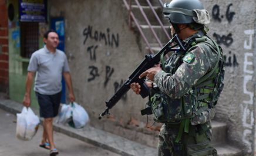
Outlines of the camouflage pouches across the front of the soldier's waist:
M 153 114 L 154 121 L 158 123 L 177 123 L 184 118 L 193 117 L 192 108 L 195 104 L 196 98 L 193 94 L 185 94 L 181 99 L 171 99 L 158 88 L 154 88 L 150 90 L 147 103 L 149 107 L 142 110 L 142 114 Z

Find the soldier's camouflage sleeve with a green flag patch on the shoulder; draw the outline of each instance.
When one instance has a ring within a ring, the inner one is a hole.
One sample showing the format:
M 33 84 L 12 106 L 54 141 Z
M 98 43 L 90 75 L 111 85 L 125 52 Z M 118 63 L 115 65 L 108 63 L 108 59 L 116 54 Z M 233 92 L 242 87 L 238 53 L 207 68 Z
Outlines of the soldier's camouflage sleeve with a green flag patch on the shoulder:
M 188 55 L 190 61 L 186 60 Z M 161 70 L 154 76 L 154 82 L 163 93 L 172 99 L 180 98 L 187 93 L 191 86 L 197 83 L 200 77 L 213 69 L 217 59 L 217 53 L 208 46 L 194 46 L 183 57 L 183 63 L 174 74 Z

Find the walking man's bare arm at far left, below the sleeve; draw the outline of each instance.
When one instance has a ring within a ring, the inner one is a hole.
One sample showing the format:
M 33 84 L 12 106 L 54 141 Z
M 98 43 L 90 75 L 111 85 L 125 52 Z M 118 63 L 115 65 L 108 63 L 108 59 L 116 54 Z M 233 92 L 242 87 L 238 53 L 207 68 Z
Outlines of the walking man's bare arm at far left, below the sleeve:
M 35 72 L 28 72 L 26 76 L 26 92 L 23 99 L 23 105 L 29 107 L 31 105 L 31 86 Z

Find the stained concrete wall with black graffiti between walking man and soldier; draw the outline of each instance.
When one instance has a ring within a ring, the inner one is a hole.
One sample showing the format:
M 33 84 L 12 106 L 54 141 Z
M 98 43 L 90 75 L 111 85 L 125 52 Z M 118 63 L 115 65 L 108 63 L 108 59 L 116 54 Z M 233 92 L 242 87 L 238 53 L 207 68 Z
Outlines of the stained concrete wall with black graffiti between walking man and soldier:
M 155 147 L 157 138 L 151 135 L 151 130 L 144 128 L 147 119 L 140 116 L 147 100 L 132 91 L 128 91 L 110 110 L 109 117 L 97 119 L 106 108 L 105 101 L 112 97 L 144 57 L 136 33 L 127 25 L 123 2 L 50 1 L 49 6 L 50 17 L 65 18 L 65 49 L 73 87 L 78 103 L 89 112 L 90 124 Z M 159 126 L 155 124 L 151 128 L 159 129 Z M 144 131 L 150 135 L 139 138 Z

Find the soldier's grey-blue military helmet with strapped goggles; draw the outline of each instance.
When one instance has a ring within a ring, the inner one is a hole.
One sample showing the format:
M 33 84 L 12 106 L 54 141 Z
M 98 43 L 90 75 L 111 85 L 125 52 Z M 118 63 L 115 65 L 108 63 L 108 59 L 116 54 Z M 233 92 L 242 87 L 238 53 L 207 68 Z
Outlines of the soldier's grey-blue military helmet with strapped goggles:
M 164 4 L 163 13 L 171 23 L 186 24 L 196 22 L 194 19 L 198 16 L 196 10 L 204 10 L 204 6 L 199 0 L 172 0 L 170 3 Z M 210 17 L 208 19 L 210 20 Z

